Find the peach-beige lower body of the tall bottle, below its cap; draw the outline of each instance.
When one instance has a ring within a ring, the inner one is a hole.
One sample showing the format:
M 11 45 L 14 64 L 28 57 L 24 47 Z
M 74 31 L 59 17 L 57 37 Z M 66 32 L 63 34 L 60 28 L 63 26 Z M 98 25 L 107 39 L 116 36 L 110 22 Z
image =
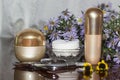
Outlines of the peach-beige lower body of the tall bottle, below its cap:
M 101 36 L 85 35 L 85 59 L 91 64 L 97 64 L 100 61 Z

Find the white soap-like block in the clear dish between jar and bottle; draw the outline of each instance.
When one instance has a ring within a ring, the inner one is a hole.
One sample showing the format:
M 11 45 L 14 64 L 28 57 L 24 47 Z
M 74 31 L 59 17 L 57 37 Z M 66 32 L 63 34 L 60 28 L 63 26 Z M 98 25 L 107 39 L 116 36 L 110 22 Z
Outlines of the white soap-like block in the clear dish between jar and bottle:
M 56 56 L 76 56 L 79 54 L 79 40 L 55 40 L 52 49 Z

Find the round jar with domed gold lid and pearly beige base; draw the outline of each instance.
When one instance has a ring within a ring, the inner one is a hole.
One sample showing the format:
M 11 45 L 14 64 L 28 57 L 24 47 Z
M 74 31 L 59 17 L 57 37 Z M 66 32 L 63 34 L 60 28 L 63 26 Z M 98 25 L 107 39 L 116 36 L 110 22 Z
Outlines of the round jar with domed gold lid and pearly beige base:
M 37 62 L 45 55 L 45 37 L 42 32 L 28 28 L 16 35 L 15 55 L 20 62 Z

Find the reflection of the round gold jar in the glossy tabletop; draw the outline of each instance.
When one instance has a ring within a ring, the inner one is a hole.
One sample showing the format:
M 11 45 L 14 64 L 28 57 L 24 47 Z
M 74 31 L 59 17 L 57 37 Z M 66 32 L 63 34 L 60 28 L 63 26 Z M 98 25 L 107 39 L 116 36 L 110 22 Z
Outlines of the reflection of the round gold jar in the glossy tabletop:
M 15 70 L 14 80 L 45 80 L 45 79 L 36 72 Z

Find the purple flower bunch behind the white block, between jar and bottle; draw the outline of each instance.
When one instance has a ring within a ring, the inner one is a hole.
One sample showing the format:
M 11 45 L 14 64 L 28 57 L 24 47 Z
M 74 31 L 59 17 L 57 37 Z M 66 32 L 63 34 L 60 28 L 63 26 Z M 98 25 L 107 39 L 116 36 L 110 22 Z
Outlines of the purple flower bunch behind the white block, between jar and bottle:
M 56 39 L 73 40 L 80 37 L 80 24 L 75 16 L 66 9 L 58 18 L 50 19 L 48 24 L 44 26 L 44 31 L 50 41 Z

